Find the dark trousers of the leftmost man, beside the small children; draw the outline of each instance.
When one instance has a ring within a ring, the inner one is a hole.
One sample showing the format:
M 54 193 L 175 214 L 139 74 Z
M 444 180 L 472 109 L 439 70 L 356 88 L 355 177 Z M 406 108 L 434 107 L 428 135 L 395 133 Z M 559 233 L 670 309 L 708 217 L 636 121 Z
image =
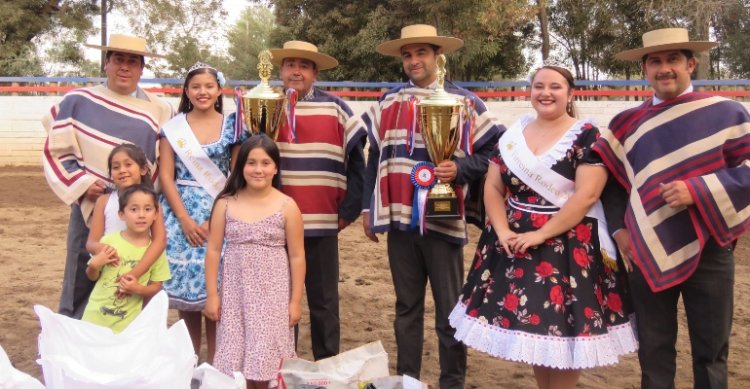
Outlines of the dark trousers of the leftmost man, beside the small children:
M 94 282 L 86 276 L 86 266 L 91 258 L 86 251 L 88 236 L 89 229 L 81 215 L 81 208 L 77 204 L 71 205 L 68 221 L 68 249 L 65 256 L 65 273 L 58 312 L 75 319 L 83 316 L 91 290 L 94 289 Z

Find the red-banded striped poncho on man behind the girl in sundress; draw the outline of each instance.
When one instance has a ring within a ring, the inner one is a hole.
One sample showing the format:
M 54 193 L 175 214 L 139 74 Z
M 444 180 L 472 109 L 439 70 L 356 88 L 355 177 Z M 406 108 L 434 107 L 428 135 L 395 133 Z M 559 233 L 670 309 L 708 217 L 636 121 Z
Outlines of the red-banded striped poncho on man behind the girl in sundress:
M 305 236 L 336 235 L 339 217 L 353 221 L 361 210 L 367 132 L 343 100 L 317 88 L 294 112 L 296 139 L 282 120 L 276 141 L 283 191 L 302 212 Z

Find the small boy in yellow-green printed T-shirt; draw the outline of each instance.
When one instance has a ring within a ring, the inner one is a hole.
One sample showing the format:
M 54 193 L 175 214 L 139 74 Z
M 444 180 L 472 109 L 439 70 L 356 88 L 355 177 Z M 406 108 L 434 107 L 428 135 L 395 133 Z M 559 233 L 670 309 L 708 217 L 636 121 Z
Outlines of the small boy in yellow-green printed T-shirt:
M 124 330 L 143 309 L 143 299 L 158 293 L 171 277 L 164 253 L 140 278 L 127 274 L 151 245 L 151 224 L 159 217 L 156 192 L 136 184 L 122 190 L 119 200 L 118 214 L 127 228 L 105 235 L 101 243 L 106 248 L 89 261 L 86 275 L 96 285 L 81 318 L 115 333 Z

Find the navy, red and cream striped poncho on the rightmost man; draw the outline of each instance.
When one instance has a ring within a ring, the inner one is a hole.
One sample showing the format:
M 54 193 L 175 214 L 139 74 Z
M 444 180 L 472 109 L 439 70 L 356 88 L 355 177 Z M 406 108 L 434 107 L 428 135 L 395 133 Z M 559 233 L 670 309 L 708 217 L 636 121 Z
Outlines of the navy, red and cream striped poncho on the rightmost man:
M 706 241 L 750 227 L 750 115 L 703 93 L 620 113 L 594 146 L 630 193 L 625 226 L 636 264 L 655 292 L 695 271 Z M 694 205 L 673 209 L 659 185 L 683 180 Z

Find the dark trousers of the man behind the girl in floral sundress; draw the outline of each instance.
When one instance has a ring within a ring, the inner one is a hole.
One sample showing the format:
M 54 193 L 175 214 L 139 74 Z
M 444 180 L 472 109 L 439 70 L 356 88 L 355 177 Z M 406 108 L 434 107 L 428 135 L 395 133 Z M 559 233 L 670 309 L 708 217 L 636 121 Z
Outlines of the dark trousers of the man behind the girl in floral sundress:
M 315 360 L 339 353 L 339 239 L 306 237 L 305 290 L 310 309 L 310 336 Z

